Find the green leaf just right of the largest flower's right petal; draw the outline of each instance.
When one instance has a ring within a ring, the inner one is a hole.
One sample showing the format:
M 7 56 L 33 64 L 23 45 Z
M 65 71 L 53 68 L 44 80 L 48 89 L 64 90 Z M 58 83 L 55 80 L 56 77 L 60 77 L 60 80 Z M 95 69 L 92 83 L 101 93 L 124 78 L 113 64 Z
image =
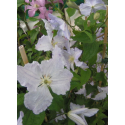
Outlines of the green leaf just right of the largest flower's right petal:
M 84 71 L 81 69 L 81 85 L 84 85 L 90 78 L 91 76 L 91 70 L 87 69 L 87 71 Z

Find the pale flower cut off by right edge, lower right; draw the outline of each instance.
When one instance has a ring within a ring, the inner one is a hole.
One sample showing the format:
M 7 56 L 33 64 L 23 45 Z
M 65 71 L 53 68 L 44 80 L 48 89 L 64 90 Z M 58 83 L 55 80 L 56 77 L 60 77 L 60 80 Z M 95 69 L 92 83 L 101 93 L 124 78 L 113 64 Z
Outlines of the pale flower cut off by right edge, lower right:
M 98 86 L 98 91 L 100 93 L 98 93 L 95 98 L 92 98 L 93 100 L 102 100 L 106 98 L 106 94 L 108 95 L 108 86 L 106 87 L 99 87 Z

